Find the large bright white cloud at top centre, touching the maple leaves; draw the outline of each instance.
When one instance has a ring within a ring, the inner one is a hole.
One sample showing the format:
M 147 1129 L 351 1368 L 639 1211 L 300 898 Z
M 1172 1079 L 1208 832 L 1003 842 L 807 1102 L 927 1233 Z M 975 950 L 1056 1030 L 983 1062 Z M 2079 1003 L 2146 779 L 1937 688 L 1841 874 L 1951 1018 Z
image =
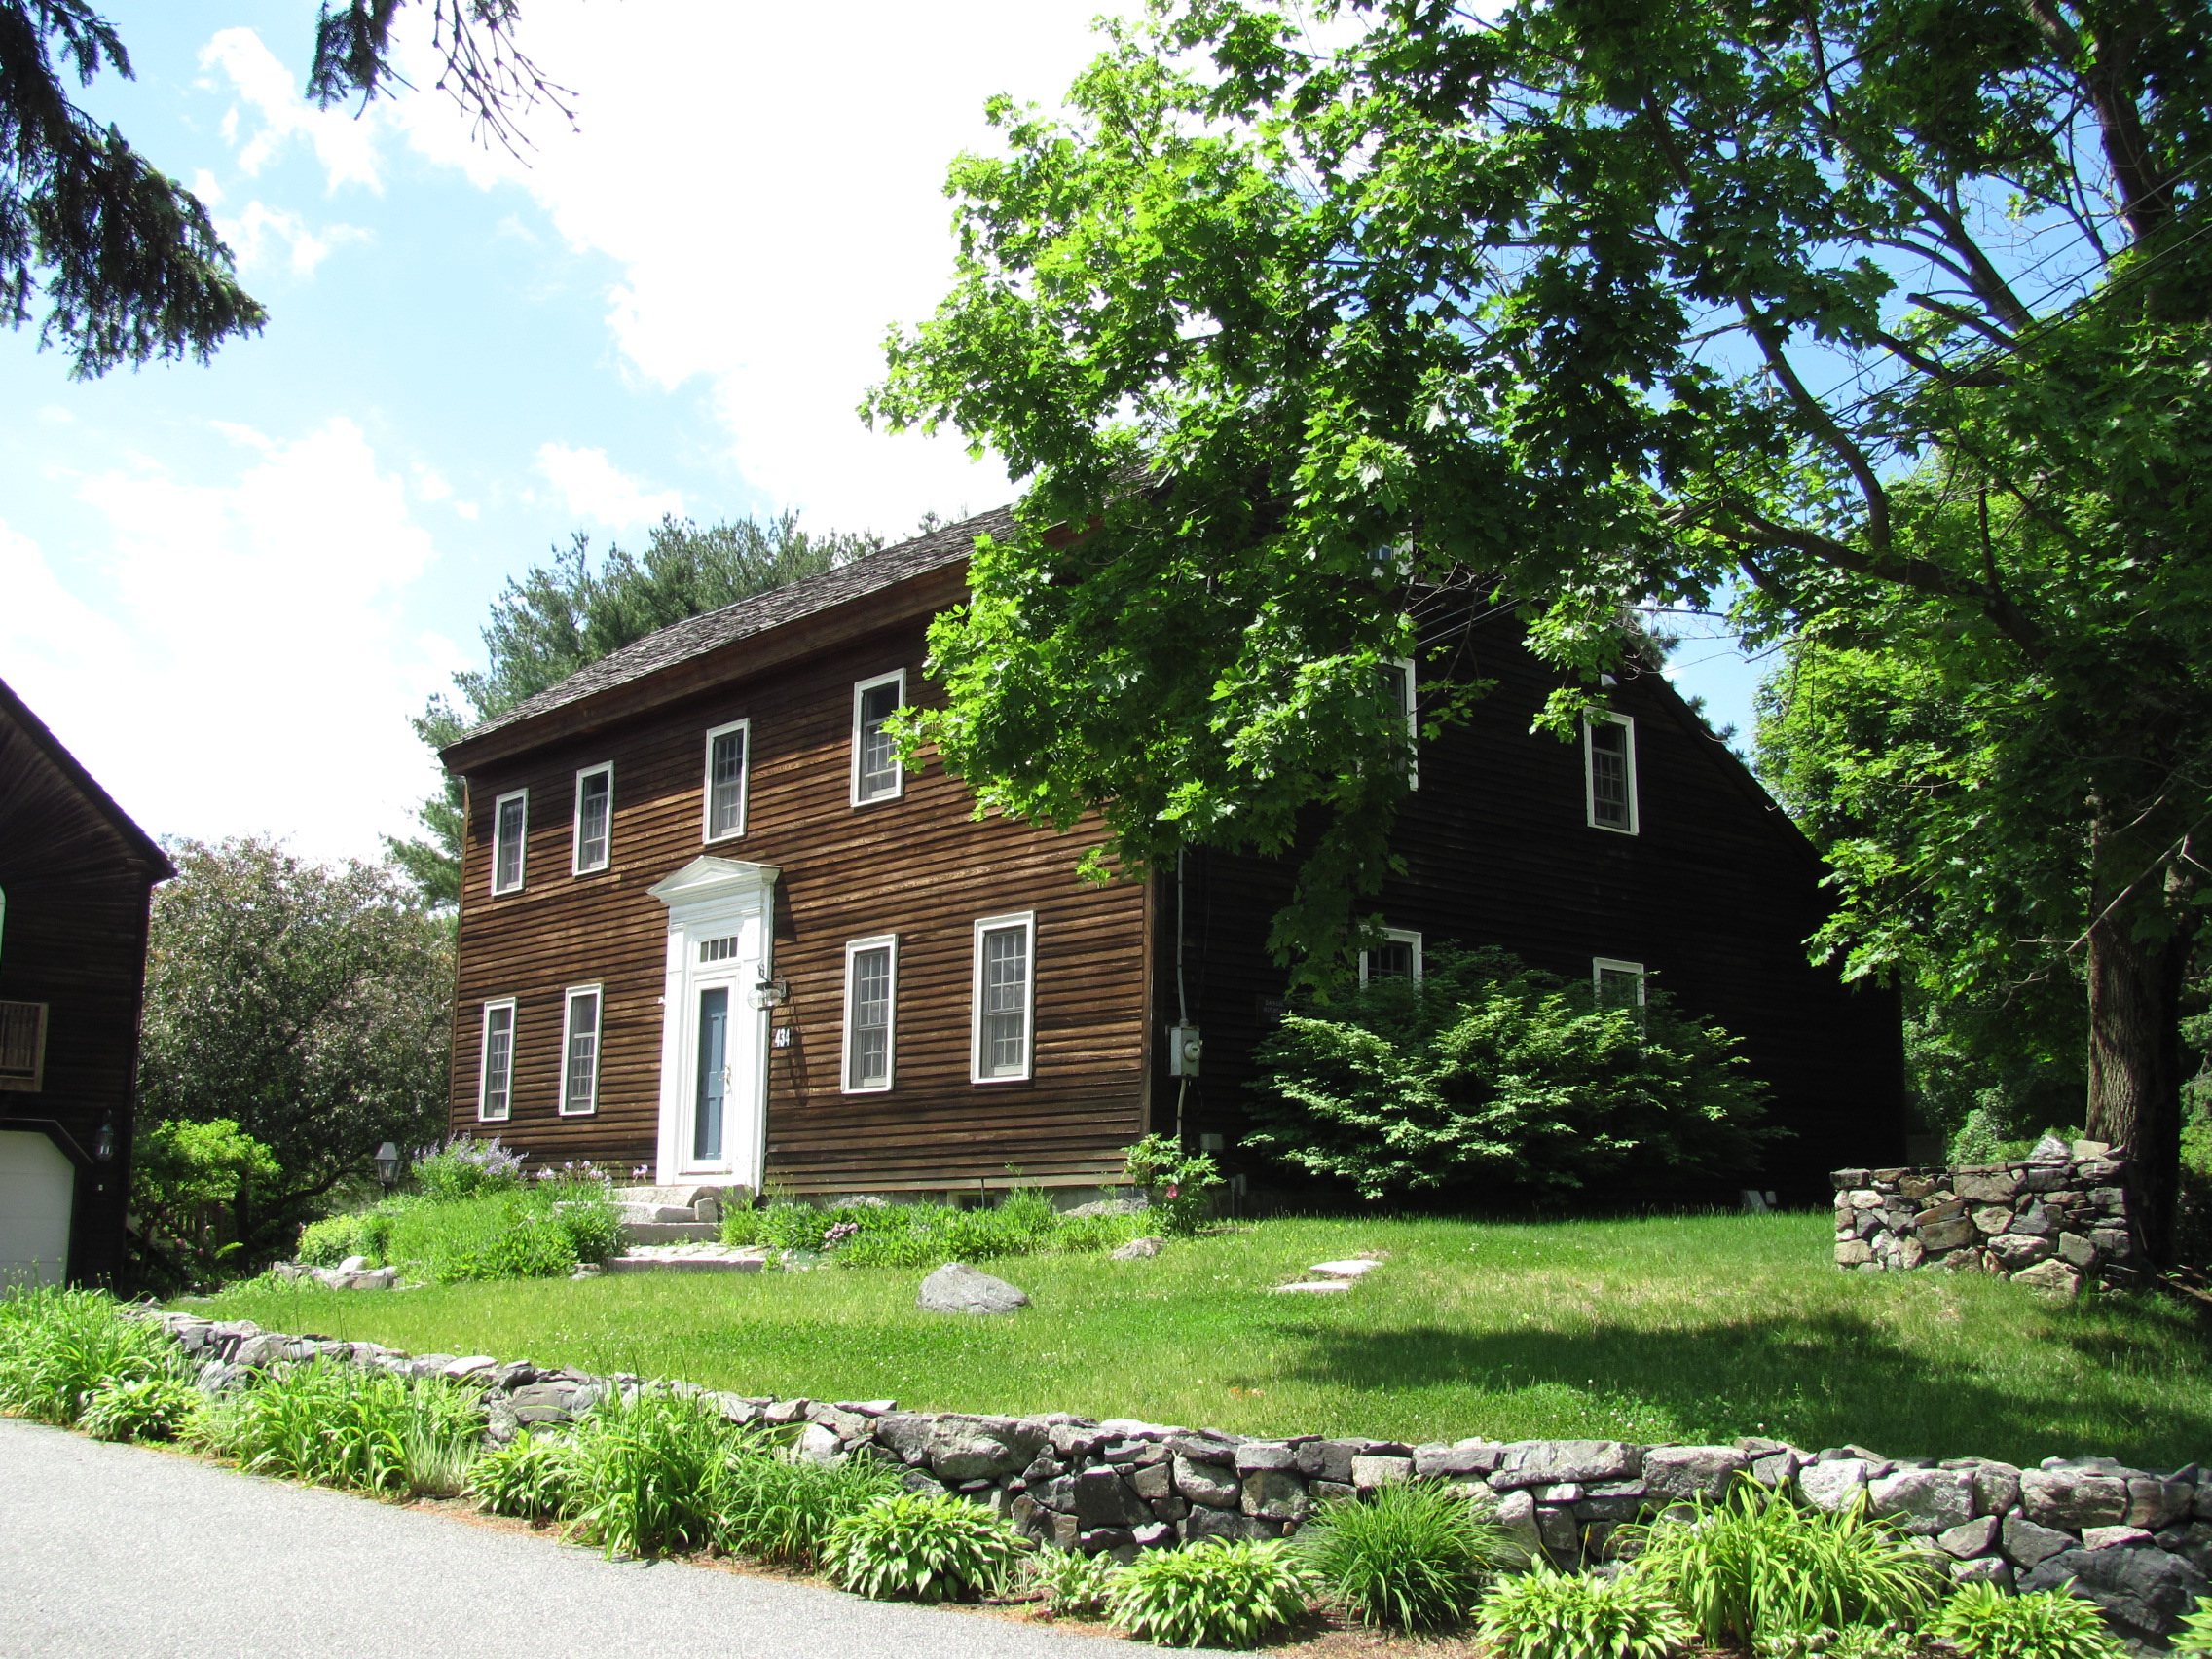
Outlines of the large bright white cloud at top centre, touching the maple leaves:
M 872 434 L 854 409 L 885 332 L 949 285 L 945 168 L 993 144 L 984 97 L 1055 102 L 1097 51 L 1095 11 L 628 0 L 615 24 L 604 0 L 533 0 L 529 51 L 577 88 L 580 133 L 538 119 L 524 166 L 473 144 L 445 100 L 405 100 L 398 119 L 425 155 L 522 186 L 571 246 L 622 263 L 624 356 L 661 387 L 708 376 L 730 460 L 776 507 L 898 533 L 1011 493 L 956 438 Z

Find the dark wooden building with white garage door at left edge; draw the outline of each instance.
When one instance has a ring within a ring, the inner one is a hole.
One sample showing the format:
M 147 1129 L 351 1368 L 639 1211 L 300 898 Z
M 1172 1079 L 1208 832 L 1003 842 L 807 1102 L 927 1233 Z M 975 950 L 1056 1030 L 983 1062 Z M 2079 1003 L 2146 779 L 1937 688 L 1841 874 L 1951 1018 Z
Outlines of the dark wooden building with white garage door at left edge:
M 0 1279 L 122 1267 L 146 914 L 175 874 L 0 686 Z

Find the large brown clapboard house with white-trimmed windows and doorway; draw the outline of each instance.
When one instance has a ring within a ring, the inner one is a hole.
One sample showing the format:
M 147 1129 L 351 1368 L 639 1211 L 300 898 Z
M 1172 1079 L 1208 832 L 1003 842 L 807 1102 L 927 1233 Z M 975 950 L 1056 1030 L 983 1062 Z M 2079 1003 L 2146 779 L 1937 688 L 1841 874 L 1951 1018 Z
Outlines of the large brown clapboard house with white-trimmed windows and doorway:
M 675 624 L 445 750 L 469 796 L 456 1130 L 664 1183 L 942 1192 L 1099 1183 L 1181 1102 L 1241 1168 L 1287 874 L 1192 854 L 1181 894 L 1172 872 L 1093 887 L 1084 827 L 975 821 L 878 730 L 940 699 L 927 624 L 1006 529 Z M 1659 973 L 1774 1088 L 1794 1139 L 1763 1186 L 1825 1194 L 1825 1170 L 1902 1155 L 1896 1002 L 1805 964 L 1820 863 L 1743 763 L 1655 672 L 1579 748 L 1531 737 L 1557 675 L 1509 617 L 1469 648 L 1451 672 L 1498 690 L 1422 745 L 1394 956 L 1500 945 L 1624 995 Z M 1186 1011 L 1190 1088 L 1166 1037 Z

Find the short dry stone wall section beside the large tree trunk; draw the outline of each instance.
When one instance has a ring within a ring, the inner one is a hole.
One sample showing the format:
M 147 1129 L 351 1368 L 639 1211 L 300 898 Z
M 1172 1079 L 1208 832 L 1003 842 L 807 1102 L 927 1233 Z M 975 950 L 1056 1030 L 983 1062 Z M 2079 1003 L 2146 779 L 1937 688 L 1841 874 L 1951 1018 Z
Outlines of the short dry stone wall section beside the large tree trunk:
M 2046 1139 L 2017 1164 L 1836 1170 L 1836 1265 L 2004 1274 L 2062 1296 L 2146 1281 L 2128 1155 Z

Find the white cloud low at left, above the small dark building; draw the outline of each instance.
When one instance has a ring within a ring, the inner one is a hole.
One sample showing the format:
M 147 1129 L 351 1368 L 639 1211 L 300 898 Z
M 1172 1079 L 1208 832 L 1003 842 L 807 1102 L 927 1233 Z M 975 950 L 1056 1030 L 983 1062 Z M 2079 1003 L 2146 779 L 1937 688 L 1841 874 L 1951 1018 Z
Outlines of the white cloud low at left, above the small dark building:
M 230 482 L 82 480 L 88 557 L 0 524 L 0 672 L 157 834 L 374 856 L 436 785 L 394 710 L 465 661 L 398 619 L 436 549 L 354 422 L 246 436 Z

